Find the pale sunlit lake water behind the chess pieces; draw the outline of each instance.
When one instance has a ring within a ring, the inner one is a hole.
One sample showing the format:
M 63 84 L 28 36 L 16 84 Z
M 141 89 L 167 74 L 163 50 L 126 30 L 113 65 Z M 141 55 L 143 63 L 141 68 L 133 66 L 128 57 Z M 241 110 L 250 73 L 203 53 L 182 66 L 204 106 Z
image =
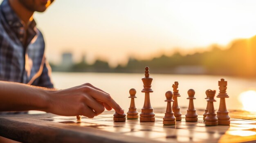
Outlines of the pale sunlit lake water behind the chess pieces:
M 141 78 L 144 73 L 52 73 L 52 79 L 55 88 L 65 89 L 73 86 L 78 86 L 84 83 L 91 83 L 92 85 L 101 88 L 108 92 L 112 98 L 119 103 L 119 105 L 126 111 L 130 106 L 130 98 L 128 98 L 130 88 L 137 90 L 137 98 L 135 105 L 137 109 L 141 109 L 144 104 L 144 94 L 141 92 L 143 83 Z M 174 81 L 179 82 L 179 92 L 181 97 L 178 97 L 178 104 L 180 107 L 187 107 L 189 100 L 187 91 L 192 88 L 195 90 L 194 105 L 196 109 L 204 109 L 207 105 L 205 90 L 216 90 L 218 95 L 218 81 L 224 78 L 227 81 L 227 94 L 229 98 L 226 99 L 227 109 L 244 109 L 240 99 L 240 94 L 248 90 L 256 90 L 256 81 L 250 79 L 242 79 L 227 76 L 210 76 L 210 75 L 164 75 L 164 74 L 150 74 L 153 78 L 152 89 L 150 93 L 150 101 L 153 108 L 166 108 L 165 92 L 168 90 L 173 91 L 172 85 Z M 246 95 L 247 96 L 247 95 Z M 249 96 L 248 96 L 249 97 Z M 256 97 L 256 95 L 255 95 Z M 252 97 L 254 98 L 254 97 Z M 244 97 L 249 103 L 251 99 Z M 220 99 L 216 98 L 217 102 L 214 107 L 218 109 Z M 246 101 L 246 102 L 247 102 Z M 252 108 L 256 109 L 254 105 L 255 100 L 252 102 Z M 245 103 L 244 103 L 245 104 Z

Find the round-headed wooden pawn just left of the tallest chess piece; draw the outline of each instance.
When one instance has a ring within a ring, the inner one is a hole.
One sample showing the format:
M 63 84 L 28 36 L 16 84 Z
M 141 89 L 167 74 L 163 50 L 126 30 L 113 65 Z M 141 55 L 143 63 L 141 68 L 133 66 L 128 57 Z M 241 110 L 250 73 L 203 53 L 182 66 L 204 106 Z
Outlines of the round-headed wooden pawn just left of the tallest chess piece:
M 136 94 L 136 90 L 134 88 L 130 89 L 129 91 L 130 93 L 130 97 L 131 98 L 131 103 L 130 103 L 130 108 L 127 112 L 127 119 L 138 119 L 138 111 L 137 111 L 137 108 L 135 107 L 135 101 L 134 101 L 134 98 L 137 98 L 135 96 Z

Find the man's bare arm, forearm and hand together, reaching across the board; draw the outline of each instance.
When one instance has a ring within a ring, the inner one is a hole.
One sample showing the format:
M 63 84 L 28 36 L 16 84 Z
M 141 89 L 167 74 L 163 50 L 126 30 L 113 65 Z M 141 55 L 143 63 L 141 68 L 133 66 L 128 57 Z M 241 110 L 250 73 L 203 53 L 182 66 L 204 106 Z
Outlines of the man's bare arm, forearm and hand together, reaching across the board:
M 52 90 L 0 81 L 0 111 L 40 110 L 64 116 L 84 115 L 94 117 L 104 111 L 124 110 L 110 95 L 91 84 L 83 84 L 65 90 Z

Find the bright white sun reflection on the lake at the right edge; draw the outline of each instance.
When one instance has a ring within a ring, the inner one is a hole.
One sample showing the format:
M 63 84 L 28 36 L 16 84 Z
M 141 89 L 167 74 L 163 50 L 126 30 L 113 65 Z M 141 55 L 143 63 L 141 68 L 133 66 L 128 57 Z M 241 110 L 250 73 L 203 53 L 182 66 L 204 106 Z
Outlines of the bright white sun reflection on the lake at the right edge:
M 249 111 L 249 112 L 256 112 L 256 91 L 254 90 L 248 90 L 245 92 L 242 92 L 239 95 L 240 101 L 243 104 L 243 110 Z

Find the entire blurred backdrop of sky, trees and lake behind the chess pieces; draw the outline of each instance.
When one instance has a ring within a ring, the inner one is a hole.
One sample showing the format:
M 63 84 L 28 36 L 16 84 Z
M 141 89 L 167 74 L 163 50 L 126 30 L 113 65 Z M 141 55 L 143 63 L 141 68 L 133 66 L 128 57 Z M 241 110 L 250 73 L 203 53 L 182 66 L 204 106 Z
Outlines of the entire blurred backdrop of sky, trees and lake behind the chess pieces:
M 137 108 L 145 66 L 154 78 L 153 108 L 166 107 L 165 92 L 179 81 L 205 108 L 205 90 L 228 81 L 228 109 L 256 111 L 256 1 L 254 0 L 55 0 L 34 19 L 46 43 L 56 88 L 90 82 L 125 110 L 129 89 Z M 127 98 L 126 98 L 127 97 Z M 215 103 L 218 108 L 219 99 Z

